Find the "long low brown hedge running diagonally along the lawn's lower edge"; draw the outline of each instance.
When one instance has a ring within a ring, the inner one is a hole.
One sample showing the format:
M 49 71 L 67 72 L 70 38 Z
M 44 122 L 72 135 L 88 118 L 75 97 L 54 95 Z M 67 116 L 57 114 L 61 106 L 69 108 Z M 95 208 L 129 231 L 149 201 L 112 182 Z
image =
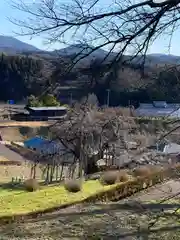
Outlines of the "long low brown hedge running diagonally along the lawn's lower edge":
M 145 177 L 138 177 L 134 180 L 130 180 L 128 182 L 115 185 L 109 190 L 98 192 L 83 200 L 62 204 L 60 206 L 48 208 L 43 211 L 30 212 L 28 214 L 2 216 L 0 217 L 0 224 L 8 224 L 12 222 L 24 221 L 27 219 L 38 218 L 39 216 L 42 216 L 46 213 L 52 213 L 54 211 L 85 202 L 92 203 L 96 201 L 118 201 L 120 199 L 131 196 L 134 193 L 137 193 L 143 189 L 146 189 L 148 187 L 151 187 L 173 177 L 174 170 L 180 171 L 180 164 L 176 164 L 174 165 L 174 167 L 171 168 L 159 170 Z

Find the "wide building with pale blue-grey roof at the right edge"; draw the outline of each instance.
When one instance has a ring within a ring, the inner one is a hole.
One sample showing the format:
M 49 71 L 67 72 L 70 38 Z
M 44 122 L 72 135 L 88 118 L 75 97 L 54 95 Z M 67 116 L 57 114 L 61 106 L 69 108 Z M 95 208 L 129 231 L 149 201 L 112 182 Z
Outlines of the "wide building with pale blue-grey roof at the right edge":
M 154 101 L 153 103 L 140 103 L 135 110 L 137 116 L 142 117 L 180 117 L 180 103 L 166 103 L 165 101 Z

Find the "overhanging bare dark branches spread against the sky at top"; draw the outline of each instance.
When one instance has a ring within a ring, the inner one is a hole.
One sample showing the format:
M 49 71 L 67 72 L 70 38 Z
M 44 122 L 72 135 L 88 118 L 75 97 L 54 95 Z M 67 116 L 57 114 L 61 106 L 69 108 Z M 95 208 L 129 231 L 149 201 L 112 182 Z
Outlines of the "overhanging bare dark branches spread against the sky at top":
M 77 63 L 97 49 L 106 47 L 107 59 L 114 50 L 111 62 L 122 60 L 123 54 L 146 55 L 150 44 L 161 34 L 170 42 L 179 26 L 179 0 L 116 0 L 101 4 L 100 0 L 40 0 L 27 4 L 15 0 L 13 6 L 26 12 L 25 20 L 11 19 L 21 27 L 22 35 L 43 35 L 49 43 L 81 43 Z M 88 44 L 88 45 L 87 45 Z M 91 47 L 94 45 L 95 47 Z

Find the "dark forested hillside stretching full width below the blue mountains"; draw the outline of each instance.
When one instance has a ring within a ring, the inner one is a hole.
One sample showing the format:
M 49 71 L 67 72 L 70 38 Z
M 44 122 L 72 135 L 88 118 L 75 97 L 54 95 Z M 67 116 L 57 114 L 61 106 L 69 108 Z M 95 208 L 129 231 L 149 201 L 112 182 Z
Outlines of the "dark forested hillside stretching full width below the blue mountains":
M 80 99 L 95 93 L 100 104 L 106 104 L 110 89 L 111 105 L 137 105 L 138 102 L 167 100 L 180 102 L 180 69 L 176 65 L 151 64 L 145 68 L 136 64 L 116 66 L 91 61 L 86 67 L 74 68 L 66 73 L 69 61 L 57 58 L 23 56 L 0 56 L 0 100 L 21 101 L 33 94 L 40 95 L 48 86 L 49 92 L 67 102 L 70 95 Z

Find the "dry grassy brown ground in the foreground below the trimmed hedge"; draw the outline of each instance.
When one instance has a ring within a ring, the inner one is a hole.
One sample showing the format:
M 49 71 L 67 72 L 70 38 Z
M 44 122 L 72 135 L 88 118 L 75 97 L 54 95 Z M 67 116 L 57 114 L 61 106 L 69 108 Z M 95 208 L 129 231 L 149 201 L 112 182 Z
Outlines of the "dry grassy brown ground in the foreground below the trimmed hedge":
M 162 205 L 144 204 L 141 209 L 134 200 L 160 200 L 179 191 L 179 181 L 171 180 L 123 201 L 77 205 L 36 220 L 0 227 L 0 239 L 140 239 L 137 229 L 142 231 L 150 221 L 157 219 L 157 214 L 162 212 Z M 164 203 L 163 208 L 166 212 L 177 206 Z M 179 239 L 176 238 L 179 230 L 172 228 L 175 222 L 170 213 L 166 218 L 163 215 L 163 222 L 158 220 L 148 240 Z M 96 238 L 92 238 L 95 234 Z

